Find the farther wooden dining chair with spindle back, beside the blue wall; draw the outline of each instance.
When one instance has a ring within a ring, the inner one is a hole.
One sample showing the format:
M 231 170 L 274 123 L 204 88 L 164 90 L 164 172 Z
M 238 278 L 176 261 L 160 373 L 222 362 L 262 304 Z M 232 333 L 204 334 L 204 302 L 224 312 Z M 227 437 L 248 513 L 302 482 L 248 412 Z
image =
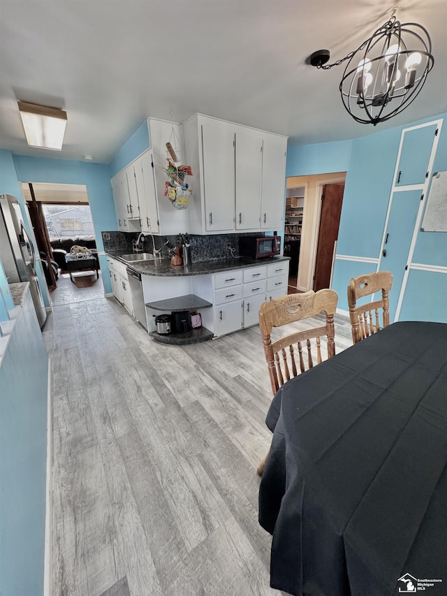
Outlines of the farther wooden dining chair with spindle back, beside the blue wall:
M 365 337 L 381 329 L 379 309 L 383 308 L 383 327 L 390 324 L 388 292 L 393 285 L 393 275 L 389 271 L 379 271 L 353 277 L 348 286 L 349 319 L 351 319 L 352 339 L 356 344 Z M 381 300 L 357 305 L 357 300 L 381 291 Z M 374 315 L 374 317 L 373 317 Z M 373 321 L 373 318 L 375 321 Z

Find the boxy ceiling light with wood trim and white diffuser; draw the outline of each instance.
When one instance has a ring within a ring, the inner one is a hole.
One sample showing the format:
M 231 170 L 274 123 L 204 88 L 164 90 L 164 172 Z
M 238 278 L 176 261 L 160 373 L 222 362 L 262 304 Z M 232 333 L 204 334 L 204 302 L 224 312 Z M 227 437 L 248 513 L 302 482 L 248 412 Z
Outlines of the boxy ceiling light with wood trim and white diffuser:
M 17 103 L 28 145 L 60 151 L 64 143 L 67 112 L 25 101 Z

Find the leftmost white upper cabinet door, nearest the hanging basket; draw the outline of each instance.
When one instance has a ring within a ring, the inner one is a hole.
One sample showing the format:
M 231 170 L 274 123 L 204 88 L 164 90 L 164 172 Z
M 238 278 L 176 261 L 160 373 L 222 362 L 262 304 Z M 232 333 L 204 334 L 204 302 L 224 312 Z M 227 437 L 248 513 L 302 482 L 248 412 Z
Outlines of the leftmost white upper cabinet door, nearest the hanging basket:
M 202 125 L 203 188 L 207 231 L 234 230 L 235 135 L 233 129 Z

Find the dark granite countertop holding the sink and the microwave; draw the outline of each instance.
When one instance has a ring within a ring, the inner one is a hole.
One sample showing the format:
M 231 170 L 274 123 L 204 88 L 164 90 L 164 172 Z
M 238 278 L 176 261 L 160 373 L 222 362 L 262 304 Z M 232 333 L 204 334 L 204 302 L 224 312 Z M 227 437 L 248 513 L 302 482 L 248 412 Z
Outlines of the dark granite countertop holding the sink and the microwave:
M 131 269 L 144 275 L 159 275 L 166 277 L 176 277 L 177 275 L 206 275 L 207 273 L 219 273 L 230 269 L 242 269 L 247 267 L 257 267 L 259 265 L 268 265 L 269 263 L 278 263 L 279 261 L 290 261 L 290 256 L 272 256 L 265 259 L 247 259 L 239 257 L 238 259 L 219 259 L 216 261 L 203 261 L 203 263 L 191 263 L 190 266 L 174 266 L 170 264 L 170 257 L 156 259 L 155 261 L 133 261 L 129 263 L 121 258 L 126 251 L 110 251 L 107 253 L 114 259 L 125 263 Z

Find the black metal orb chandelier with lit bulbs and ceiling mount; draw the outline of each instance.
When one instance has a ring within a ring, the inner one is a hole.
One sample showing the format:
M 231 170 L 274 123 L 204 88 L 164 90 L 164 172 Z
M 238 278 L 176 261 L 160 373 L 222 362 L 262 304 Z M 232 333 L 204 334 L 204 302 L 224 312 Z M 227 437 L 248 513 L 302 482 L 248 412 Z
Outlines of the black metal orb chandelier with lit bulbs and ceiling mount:
M 425 27 L 401 23 L 393 15 L 360 48 L 333 64 L 318 50 L 310 64 L 328 70 L 348 60 L 339 85 L 343 105 L 362 124 L 379 124 L 400 114 L 422 89 L 434 59 Z

